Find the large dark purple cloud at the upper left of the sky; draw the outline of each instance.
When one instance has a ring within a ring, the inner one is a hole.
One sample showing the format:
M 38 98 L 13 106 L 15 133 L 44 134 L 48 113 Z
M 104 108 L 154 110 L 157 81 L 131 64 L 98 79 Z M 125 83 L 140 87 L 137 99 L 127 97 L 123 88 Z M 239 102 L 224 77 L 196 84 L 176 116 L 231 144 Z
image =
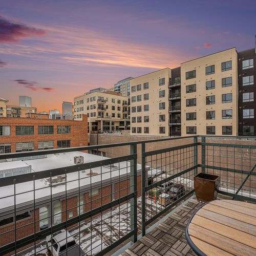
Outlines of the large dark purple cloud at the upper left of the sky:
M 0 42 L 19 42 L 22 38 L 45 35 L 42 29 L 13 23 L 0 16 Z

